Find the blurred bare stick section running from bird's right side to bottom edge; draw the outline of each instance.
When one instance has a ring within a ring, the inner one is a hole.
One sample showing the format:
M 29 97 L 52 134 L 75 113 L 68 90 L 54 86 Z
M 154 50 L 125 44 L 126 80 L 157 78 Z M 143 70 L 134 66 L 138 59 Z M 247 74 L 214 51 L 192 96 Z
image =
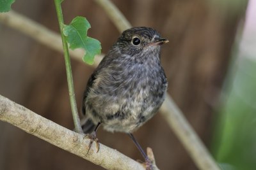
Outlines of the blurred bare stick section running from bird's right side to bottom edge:
M 199 169 L 220 169 L 170 96 L 166 96 L 160 111 Z

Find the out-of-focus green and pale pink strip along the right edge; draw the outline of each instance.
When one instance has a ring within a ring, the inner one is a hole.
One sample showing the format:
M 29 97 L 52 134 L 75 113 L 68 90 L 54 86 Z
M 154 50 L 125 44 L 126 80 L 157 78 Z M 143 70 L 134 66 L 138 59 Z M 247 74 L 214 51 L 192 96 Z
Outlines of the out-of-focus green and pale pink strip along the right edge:
M 253 11 L 254 4 L 250 3 Z M 250 20 L 255 14 L 252 17 L 253 13 L 247 13 L 216 122 L 213 152 L 225 170 L 256 168 L 256 22 Z

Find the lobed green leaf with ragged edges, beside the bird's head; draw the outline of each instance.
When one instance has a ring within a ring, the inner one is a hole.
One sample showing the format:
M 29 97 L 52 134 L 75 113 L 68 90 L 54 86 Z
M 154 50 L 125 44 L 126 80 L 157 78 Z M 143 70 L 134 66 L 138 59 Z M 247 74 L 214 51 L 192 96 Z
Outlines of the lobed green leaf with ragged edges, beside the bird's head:
M 76 17 L 69 25 L 65 25 L 63 34 L 65 35 L 69 48 L 83 48 L 86 53 L 83 60 L 87 64 L 93 64 L 95 55 L 100 54 L 100 41 L 87 36 L 87 31 L 91 25 L 84 17 Z

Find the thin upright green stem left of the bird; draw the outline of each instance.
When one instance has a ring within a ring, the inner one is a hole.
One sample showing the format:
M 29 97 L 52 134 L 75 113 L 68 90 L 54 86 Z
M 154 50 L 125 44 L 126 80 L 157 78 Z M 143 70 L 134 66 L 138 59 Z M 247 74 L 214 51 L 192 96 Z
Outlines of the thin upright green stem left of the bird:
M 61 33 L 61 39 L 62 39 L 62 45 L 63 45 L 63 51 L 64 51 L 64 57 L 65 57 L 65 66 L 66 66 L 66 71 L 67 71 L 68 92 L 69 92 L 69 97 L 70 97 L 70 104 L 71 104 L 74 125 L 75 125 L 75 131 L 78 133 L 83 133 L 83 130 L 82 130 L 81 124 L 80 124 L 78 111 L 77 111 L 74 83 L 73 83 L 72 70 L 71 70 L 71 64 L 70 64 L 70 57 L 69 57 L 69 53 L 68 53 L 68 45 L 67 45 L 67 41 L 65 40 L 65 36 L 63 34 L 64 21 L 63 21 L 63 15 L 62 15 L 62 11 L 61 11 L 61 0 L 54 0 L 54 3 L 55 3 L 58 22 L 59 22 L 59 26 L 60 26 L 60 33 Z

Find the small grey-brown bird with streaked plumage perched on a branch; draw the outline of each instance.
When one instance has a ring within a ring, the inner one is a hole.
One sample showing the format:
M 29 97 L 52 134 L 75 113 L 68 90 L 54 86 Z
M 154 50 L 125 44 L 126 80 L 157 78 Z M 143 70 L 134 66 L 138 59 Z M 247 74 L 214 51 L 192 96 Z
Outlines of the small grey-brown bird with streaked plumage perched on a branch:
M 132 132 L 156 115 L 168 86 L 160 62 L 161 45 L 168 39 L 150 27 L 127 29 L 111 46 L 88 80 L 83 94 L 84 134 L 93 141 L 100 125 L 109 132 L 129 134 L 145 161 L 147 154 Z

